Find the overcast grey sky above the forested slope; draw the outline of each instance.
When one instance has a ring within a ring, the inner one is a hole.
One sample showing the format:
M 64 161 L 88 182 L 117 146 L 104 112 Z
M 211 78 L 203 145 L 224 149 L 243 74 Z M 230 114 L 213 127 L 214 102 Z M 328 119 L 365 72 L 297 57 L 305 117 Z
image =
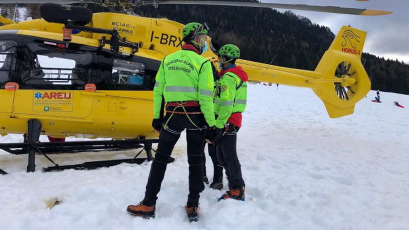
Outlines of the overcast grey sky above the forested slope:
M 393 11 L 386 16 L 353 16 L 308 11 L 294 12 L 337 34 L 342 25 L 368 32 L 364 52 L 409 63 L 409 0 L 261 0 L 261 2 L 340 6 Z M 285 10 L 279 10 L 284 12 Z

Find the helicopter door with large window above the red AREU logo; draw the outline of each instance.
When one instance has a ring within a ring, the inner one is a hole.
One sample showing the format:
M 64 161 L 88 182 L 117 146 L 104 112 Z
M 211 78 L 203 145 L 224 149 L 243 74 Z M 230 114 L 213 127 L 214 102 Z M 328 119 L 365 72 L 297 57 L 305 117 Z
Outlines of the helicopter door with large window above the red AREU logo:
M 29 40 L 20 53 L 15 117 L 84 121 L 91 114 L 93 95 L 84 93 L 84 86 L 92 71 L 92 48 Z

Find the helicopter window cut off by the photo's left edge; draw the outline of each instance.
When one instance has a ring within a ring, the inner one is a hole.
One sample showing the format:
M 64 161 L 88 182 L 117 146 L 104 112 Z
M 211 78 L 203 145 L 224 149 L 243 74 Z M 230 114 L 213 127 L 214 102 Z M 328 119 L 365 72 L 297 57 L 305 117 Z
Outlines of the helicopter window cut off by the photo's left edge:
M 16 50 L 15 41 L 0 40 L 0 83 L 9 81 L 16 69 Z

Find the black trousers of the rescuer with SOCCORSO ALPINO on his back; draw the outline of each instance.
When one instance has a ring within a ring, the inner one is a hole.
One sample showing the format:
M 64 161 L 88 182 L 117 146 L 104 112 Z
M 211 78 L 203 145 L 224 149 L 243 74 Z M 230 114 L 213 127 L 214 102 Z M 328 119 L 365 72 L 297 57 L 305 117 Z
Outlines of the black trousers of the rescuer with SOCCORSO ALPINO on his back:
M 200 111 L 200 107 L 197 107 Z M 167 109 L 172 111 L 173 109 Z M 193 109 L 194 110 L 194 109 Z M 192 109 L 190 109 L 192 111 Z M 146 185 L 144 205 L 156 204 L 157 195 L 165 177 L 167 161 L 180 134 L 186 129 L 187 161 L 189 163 L 188 202 L 199 202 L 200 193 L 205 189 L 203 183 L 203 143 L 205 141 L 206 122 L 203 114 L 167 113 L 159 135 L 158 149 L 150 167 Z

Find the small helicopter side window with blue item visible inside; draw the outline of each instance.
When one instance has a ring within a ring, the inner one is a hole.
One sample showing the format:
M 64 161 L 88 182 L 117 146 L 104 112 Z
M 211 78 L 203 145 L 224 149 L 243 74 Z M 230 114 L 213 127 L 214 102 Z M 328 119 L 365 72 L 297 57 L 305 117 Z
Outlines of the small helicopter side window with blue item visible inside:
M 145 64 L 122 59 L 113 59 L 111 84 L 144 86 Z

